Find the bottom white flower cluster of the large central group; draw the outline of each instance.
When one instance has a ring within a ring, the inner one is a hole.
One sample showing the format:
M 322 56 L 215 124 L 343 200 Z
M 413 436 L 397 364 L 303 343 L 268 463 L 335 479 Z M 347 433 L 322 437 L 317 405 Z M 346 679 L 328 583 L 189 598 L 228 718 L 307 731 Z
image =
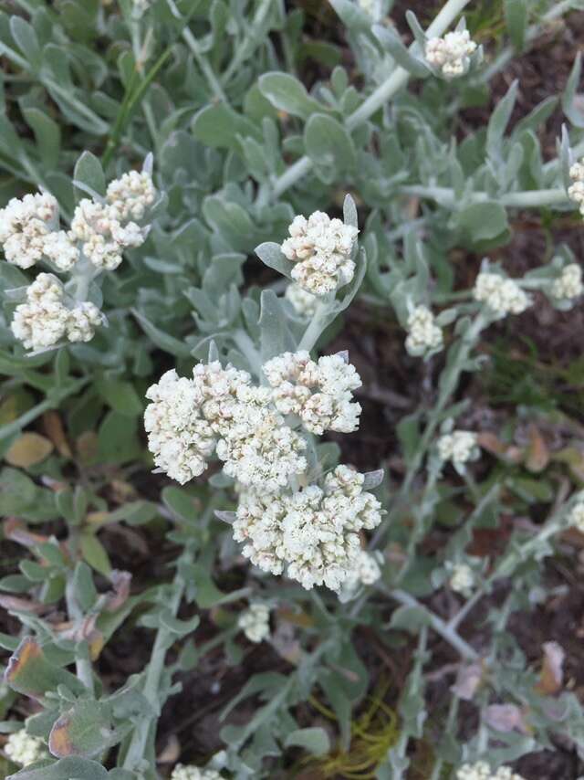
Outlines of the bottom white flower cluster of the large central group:
M 338 466 L 323 487 L 266 496 L 245 493 L 233 524 L 236 542 L 253 564 L 297 580 L 309 590 L 339 592 L 360 562 L 360 531 L 381 522 L 381 504 L 362 490 L 363 475 Z

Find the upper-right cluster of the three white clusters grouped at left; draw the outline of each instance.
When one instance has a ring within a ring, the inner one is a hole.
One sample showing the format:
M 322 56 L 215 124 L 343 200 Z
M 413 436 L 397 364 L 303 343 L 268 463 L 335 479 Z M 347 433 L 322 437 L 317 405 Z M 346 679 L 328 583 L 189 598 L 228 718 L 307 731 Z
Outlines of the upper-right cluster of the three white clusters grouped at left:
M 148 236 L 142 219 L 156 197 L 151 174 L 131 171 L 110 182 L 105 202 L 83 198 L 75 209 L 71 236 L 97 269 L 117 269 L 124 249 L 140 247 Z

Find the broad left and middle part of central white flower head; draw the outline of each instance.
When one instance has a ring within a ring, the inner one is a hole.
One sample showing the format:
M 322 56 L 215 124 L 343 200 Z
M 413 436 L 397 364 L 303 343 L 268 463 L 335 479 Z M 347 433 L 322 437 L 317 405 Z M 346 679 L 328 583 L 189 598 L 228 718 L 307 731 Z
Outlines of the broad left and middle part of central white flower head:
M 270 408 L 271 391 L 251 385 L 245 371 L 199 364 L 187 379 L 172 370 L 146 397 L 155 463 L 181 484 L 203 473 L 214 449 L 226 474 L 258 490 L 278 490 L 306 469 L 306 441 Z

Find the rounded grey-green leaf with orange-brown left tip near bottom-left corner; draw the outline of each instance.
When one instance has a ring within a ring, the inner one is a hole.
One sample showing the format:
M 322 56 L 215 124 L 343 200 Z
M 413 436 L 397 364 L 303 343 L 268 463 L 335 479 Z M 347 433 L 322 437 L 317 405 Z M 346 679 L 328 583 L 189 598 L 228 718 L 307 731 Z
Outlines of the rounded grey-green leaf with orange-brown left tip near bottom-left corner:
M 53 724 L 48 747 L 57 758 L 81 755 L 92 758 L 115 744 L 110 708 L 99 701 L 78 701 Z

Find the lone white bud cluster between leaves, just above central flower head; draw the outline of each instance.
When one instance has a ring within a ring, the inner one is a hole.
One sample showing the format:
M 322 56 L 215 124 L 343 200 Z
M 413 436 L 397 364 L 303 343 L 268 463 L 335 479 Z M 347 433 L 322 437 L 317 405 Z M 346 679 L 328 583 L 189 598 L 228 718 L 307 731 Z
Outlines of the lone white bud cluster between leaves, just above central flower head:
M 355 273 L 351 253 L 359 230 L 315 211 L 295 216 L 282 252 L 295 263 L 292 278 L 313 295 L 326 295 L 348 284 Z

